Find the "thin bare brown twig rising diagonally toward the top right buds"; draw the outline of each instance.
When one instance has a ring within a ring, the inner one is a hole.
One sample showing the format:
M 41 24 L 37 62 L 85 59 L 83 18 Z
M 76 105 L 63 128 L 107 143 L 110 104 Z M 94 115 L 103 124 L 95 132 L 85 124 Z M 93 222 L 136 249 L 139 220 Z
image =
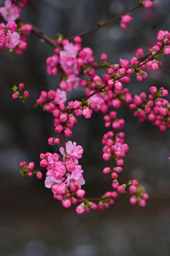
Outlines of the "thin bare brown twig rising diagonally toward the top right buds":
M 137 4 L 137 6 L 134 6 L 132 8 L 130 8 L 128 11 L 125 11 L 123 14 L 120 14 L 119 16 L 116 16 L 115 18 L 112 18 L 110 21 L 106 21 L 105 23 L 98 23 L 96 27 L 91 28 L 88 31 L 85 31 L 83 33 L 79 33 L 77 36 L 83 37 L 86 35 L 89 35 L 90 33 L 93 33 L 94 31 L 97 31 L 99 28 L 103 28 L 104 26 L 108 26 L 109 24 L 113 23 L 114 21 L 118 21 L 121 16 L 125 15 L 125 14 L 129 14 L 132 11 L 135 11 L 136 9 L 140 8 L 140 6 L 142 6 L 142 4 Z M 74 38 L 74 36 L 71 37 L 71 39 Z

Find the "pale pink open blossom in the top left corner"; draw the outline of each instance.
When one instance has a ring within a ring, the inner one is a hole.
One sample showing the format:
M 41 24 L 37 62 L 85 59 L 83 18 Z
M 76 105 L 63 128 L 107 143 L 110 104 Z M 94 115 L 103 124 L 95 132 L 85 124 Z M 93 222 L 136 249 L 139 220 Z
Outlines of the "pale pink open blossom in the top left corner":
M 4 3 L 4 7 L 0 8 L 0 14 L 4 18 L 5 21 L 16 21 L 19 18 L 19 14 L 21 13 L 21 8 L 12 4 L 11 0 L 6 0 Z

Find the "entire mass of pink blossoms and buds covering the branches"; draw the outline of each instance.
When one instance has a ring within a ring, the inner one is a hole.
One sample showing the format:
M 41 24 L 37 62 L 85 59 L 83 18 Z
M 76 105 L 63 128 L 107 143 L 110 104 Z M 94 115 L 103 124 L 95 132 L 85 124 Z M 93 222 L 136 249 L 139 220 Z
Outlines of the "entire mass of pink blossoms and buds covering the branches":
M 17 54 L 22 54 L 27 48 L 26 36 L 31 33 L 33 27 L 18 21 L 21 8 L 27 2 L 28 0 L 6 0 L 4 7 L 0 8 L 1 16 L 8 22 L 6 25 L 0 24 L 1 50 L 9 48 L 11 52 L 15 50 Z M 152 6 L 152 1 L 141 0 L 139 6 L 142 5 L 149 8 Z M 130 12 L 118 18 L 123 29 L 132 21 Z M 98 28 L 103 24 L 99 23 Z M 41 33 L 38 36 L 43 38 Z M 149 48 L 147 55 L 144 55 L 142 48 L 137 48 L 136 55 L 130 60 L 120 58 L 119 63 L 110 64 L 106 53 L 102 53 L 101 66 L 94 60 L 91 48 L 82 48 L 80 36 L 75 36 L 69 41 L 60 35 L 56 43 L 53 39 L 51 43 L 51 39 L 45 37 L 45 41 L 50 40 L 50 44 L 55 46 L 55 54 L 46 59 L 47 74 L 58 74 L 57 89 L 48 92 L 42 90 L 38 100 L 31 102 L 27 99 L 29 92 L 27 90 L 23 92 L 24 85 L 20 83 L 18 87 L 13 86 L 12 97 L 13 99 L 19 97 L 23 102 L 39 105 L 44 111 L 52 113 L 57 137 L 50 137 L 48 144 L 52 146 L 61 144 L 60 155 L 50 152 L 40 154 L 39 169 L 34 169 L 33 162 L 27 164 L 23 161 L 20 164 L 21 174 L 28 176 L 36 174 L 37 178 L 42 178 L 42 171 L 45 171 L 45 187 L 52 190 L 54 198 L 62 201 L 65 208 L 80 203 L 76 208 L 78 214 L 95 209 L 104 210 L 114 203 L 115 198 L 127 192 L 130 193 L 131 204 L 138 203 L 140 206 L 145 206 L 148 199 L 145 188 L 137 180 L 125 181 L 120 178 L 123 158 L 129 147 L 125 144 L 124 132 L 116 132 L 117 129 L 123 129 L 125 124 L 123 118 L 118 118 L 117 110 L 123 104 L 128 105 L 130 110 L 134 110 L 134 116 L 139 117 L 140 122 L 148 119 L 161 131 L 166 127 L 170 128 L 170 104 L 168 100 L 163 99 L 169 92 L 164 87 L 159 90 L 157 87 L 150 87 L 148 96 L 145 92 L 134 95 L 124 87 L 124 84 L 130 82 L 133 74 L 137 82 L 140 82 L 147 78 L 149 71 L 157 71 L 162 66 L 159 55 L 170 54 L 169 31 L 159 31 L 157 43 Z M 105 69 L 106 73 L 99 76 L 98 68 Z M 67 92 L 72 92 L 79 86 L 84 87 L 85 99 L 71 100 L 67 104 Z M 84 171 L 79 165 L 84 149 L 82 146 L 77 146 L 76 142 L 65 142 L 65 137 L 72 136 L 72 128 L 81 115 L 89 119 L 93 112 L 99 111 L 104 114 L 105 127 L 110 129 L 102 139 L 103 160 L 110 161 L 110 165 L 103 169 L 103 174 L 111 175 L 113 191 L 107 191 L 100 198 L 85 198 L 85 191 L 81 189 L 85 183 Z

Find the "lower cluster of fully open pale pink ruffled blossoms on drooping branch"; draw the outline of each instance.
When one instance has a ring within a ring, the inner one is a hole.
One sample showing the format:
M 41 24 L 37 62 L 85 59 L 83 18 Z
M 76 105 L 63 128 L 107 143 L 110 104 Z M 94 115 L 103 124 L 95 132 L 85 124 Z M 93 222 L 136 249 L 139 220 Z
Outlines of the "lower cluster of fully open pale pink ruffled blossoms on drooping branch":
M 40 166 L 47 169 L 45 178 L 45 186 L 51 188 L 52 185 L 65 183 L 67 186 L 74 185 L 75 182 L 79 186 L 84 185 L 85 181 L 82 176 L 83 170 L 79 165 L 78 159 L 83 154 L 82 146 L 77 146 L 76 142 L 66 143 L 65 149 L 60 147 L 63 161 L 57 153 L 40 154 Z

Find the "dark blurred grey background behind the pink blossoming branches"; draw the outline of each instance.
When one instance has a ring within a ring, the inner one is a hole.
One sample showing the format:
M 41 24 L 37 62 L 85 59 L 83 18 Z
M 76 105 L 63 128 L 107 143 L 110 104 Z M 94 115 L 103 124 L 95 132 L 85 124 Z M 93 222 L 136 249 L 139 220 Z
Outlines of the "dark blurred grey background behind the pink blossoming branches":
M 42 0 L 30 1 L 21 18 L 34 23 L 53 38 L 57 33 L 69 37 L 121 14 L 137 0 Z M 4 1 L 0 1 L 2 5 Z M 170 1 L 155 0 L 154 8 L 138 9 L 133 21 L 123 31 L 119 21 L 84 37 L 83 46 L 101 53 L 108 62 L 132 58 L 137 48 L 147 49 L 156 43 L 159 29 L 169 30 Z M 12 100 L 11 87 L 24 82 L 30 100 L 41 90 L 54 89 L 56 77 L 47 76 L 45 59 L 53 49 L 35 36 L 28 36 L 23 55 L 0 53 L 0 256 L 169 256 L 170 255 L 170 132 L 159 132 L 150 122 L 140 124 L 127 107 L 120 107 L 125 119 L 125 142 L 130 151 L 125 157 L 125 179 L 138 178 L 149 193 L 146 208 L 130 206 L 128 196 L 119 198 L 104 212 L 77 215 L 74 206 L 64 209 L 45 188 L 44 179 L 21 176 L 20 161 L 35 161 L 39 154 L 58 151 L 47 144 L 55 136 L 52 116 L 27 102 Z M 140 94 L 154 85 L 169 89 L 169 56 L 162 57 L 162 68 L 149 73 L 144 82 L 135 76 L 130 91 Z M 101 72 L 101 71 L 100 71 Z M 99 74 L 101 74 L 99 72 Z M 84 97 L 84 89 L 69 93 L 69 100 Z M 86 196 L 98 196 L 111 190 L 109 176 L 103 176 L 101 138 L 107 131 L 103 115 L 90 120 L 79 118 L 72 141 L 84 146 L 80 164 L 84 169 Z

